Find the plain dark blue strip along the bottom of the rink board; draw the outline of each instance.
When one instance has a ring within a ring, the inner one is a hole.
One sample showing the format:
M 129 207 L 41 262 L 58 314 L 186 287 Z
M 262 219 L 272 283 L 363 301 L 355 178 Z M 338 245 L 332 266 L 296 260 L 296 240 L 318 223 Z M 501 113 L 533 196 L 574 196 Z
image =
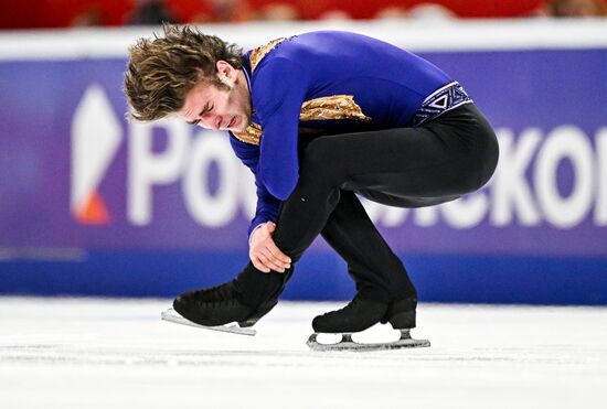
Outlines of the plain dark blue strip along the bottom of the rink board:
M 438 302 L 607 304 L 605 258 L 401 255 L 419 299 Z M 174 297 L 232 279 L 243 254 L 89 252 L 82 261 L 2 262 L 4 294 Z M 354 294 L 337 256 L 305 256 L 285 300 Z

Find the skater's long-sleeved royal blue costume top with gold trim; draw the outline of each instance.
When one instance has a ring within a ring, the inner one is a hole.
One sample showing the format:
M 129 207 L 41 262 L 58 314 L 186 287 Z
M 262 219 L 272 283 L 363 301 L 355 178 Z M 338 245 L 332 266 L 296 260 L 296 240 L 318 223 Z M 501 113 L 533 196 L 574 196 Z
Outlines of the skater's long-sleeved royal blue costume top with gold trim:
M 255 174 L 255 226 L 278 215 L 298 181 L 298 138 L 414 126 L 433 92 L 451 79 L 429 62 L 360 34 L 319 31 L 245 54 L 252 125 L 231 132 Z

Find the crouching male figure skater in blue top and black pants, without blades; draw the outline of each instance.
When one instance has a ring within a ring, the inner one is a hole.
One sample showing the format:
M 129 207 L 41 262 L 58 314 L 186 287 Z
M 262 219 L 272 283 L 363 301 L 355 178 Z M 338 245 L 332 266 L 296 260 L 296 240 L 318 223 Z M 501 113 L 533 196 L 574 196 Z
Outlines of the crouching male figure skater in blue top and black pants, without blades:
M 230 282 L 179 295 L 174 309 L 201 325 L 253 325 L 321 234 L 348 262 L 356 295 L 317 316 L 315 331 L 414 327 L 416 290 L 356 194 L 419 207 L 489 181 L 498 143 L 462 86 L 414 54 L 349 32 L 278 39 L 243 54 L 194 28 L 163 31 L 130 49 L 132 117 L 228 131 L 258 200 L 251 262 Z

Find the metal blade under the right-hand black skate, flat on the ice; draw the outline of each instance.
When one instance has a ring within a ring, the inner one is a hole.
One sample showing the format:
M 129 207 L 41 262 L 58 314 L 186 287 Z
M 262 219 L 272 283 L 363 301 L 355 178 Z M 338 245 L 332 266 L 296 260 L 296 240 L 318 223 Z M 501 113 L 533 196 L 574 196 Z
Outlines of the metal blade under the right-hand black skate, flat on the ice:
M 383 351 L 401 348 L 422 348 L 430 346 L 428 340 L 414 340 L 409 335 L 409 330 L 401 330 L 401 338 L 386 343 L 358 343 L 352 341 L 352 334 L 342 334 L 340 342 L 336 344 L 322 344 L 317 341 L 318 333 L 313 333 L 306 343 L 312 351 Z

